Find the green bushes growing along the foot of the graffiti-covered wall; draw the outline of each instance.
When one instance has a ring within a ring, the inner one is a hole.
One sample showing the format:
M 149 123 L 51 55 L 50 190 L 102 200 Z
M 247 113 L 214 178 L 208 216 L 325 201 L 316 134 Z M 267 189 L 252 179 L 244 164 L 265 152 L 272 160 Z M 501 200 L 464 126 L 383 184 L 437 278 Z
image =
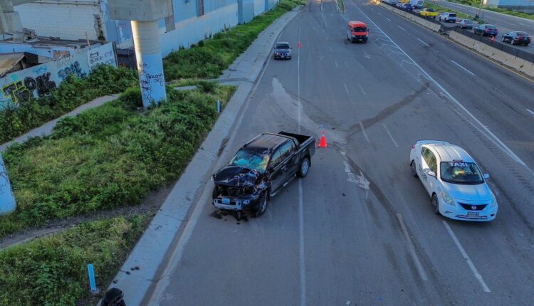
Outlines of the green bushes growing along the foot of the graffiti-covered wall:
M 137 84 L 137 71 L 103 65 L 86 78 L 72 75 L 38 99 L 21 101 L 16 107 L 0 111 L 0 144 L 56 119 L 76 107 L 103 95 L 121 93 Z

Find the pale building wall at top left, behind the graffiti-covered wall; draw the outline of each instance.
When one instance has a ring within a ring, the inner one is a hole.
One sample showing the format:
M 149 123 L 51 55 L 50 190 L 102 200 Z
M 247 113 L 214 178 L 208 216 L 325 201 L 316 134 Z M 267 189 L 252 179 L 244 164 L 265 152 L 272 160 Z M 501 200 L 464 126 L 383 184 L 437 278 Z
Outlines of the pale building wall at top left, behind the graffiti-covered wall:
M 62 39 L 97 40 L 105 31 L 98 0 L 37 1 L 15 6 L 21 16 L 22 26 L 36 31 L 38 36 L 55 36 Z

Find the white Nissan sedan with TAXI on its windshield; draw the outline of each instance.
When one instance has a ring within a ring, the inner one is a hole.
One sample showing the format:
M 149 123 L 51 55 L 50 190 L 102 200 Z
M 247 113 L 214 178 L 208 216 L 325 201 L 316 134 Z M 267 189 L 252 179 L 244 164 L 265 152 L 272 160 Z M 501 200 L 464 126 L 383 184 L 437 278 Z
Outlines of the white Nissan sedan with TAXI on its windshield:
M 469 154 L 454 144 L 421 140 L 410 152 L 412 175 L 419 176 L 434 213 L 456 220 L 491 221 L 497 200 Z

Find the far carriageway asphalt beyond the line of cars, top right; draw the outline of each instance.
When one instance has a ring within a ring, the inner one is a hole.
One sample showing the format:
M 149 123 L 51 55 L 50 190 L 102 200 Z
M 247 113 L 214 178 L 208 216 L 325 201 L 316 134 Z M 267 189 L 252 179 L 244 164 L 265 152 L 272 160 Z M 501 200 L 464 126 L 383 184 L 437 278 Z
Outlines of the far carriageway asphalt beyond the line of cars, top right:
M 454 9 L 455 11 L 461 11 L 462 13 L 470 14 L 471 16 L 475 16 L 476 14 L 478 14 L 478 8 L 475 8 L 473 6 L 456 4 L 454 2 L 449 2 L 449 1 L 439 1 L 438 4 L 440 6 Z M 486 19 L 486 23 L 494 24 L 499 29 L 499 35 L 496 37 L 498 41 L 501 41 L 502 34 L 510 32 L 510 31 L 525 31 L 529 33 L 530 36 L 534 35 L 534 20 L 501 14 L 495 11 L 488 11 L 486 9 L 483 9 L 482 11 L 484 14 L 484 19 Z M 523 50 L 529 53 L 534 53 L 533 43 L 530 43 L 530 45 L 526 47 L 525 46 L 512 46 L 512 47 L 518 48 L 520 50 Z

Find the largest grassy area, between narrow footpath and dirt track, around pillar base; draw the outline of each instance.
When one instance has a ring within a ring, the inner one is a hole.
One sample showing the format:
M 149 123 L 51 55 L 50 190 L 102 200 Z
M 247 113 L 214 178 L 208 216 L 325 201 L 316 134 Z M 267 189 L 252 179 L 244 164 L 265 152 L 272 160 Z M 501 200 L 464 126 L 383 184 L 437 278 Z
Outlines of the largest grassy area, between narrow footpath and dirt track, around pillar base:
M 175 181 L 234 87 L 206 81 L 197 90 L 169 88 L 150 110 L 136 86 L 118 100 L 58 122 L 53 134 L 4 152 L 17 209 L 0 218 L 0 237 L 46 221 L 139 204 Z

